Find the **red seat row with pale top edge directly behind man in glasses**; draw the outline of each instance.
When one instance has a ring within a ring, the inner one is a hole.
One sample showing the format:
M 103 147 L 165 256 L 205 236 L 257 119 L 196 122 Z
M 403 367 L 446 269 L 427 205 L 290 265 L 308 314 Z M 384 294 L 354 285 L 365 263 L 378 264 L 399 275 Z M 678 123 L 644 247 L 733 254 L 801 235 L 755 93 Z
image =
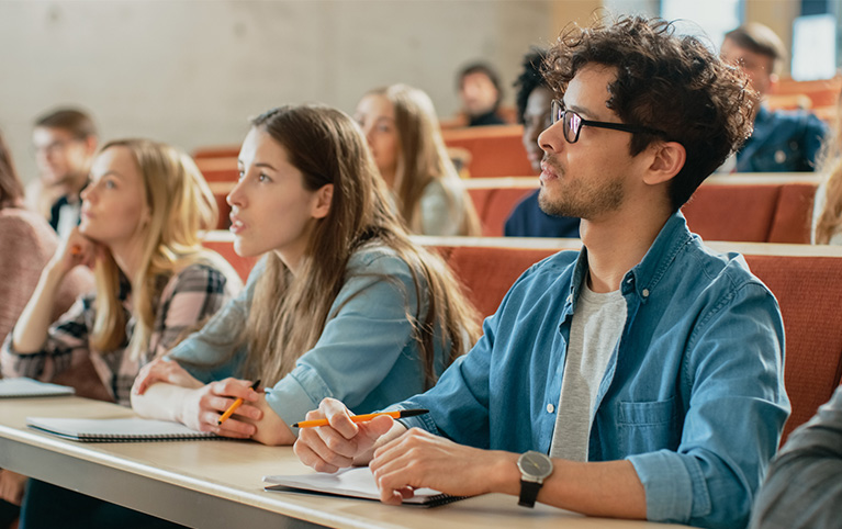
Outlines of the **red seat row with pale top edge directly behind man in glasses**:
M 579 249 L 579 239 L 415 237 L 438 251 L 462 282 L 483 317 L 532 263 L 561 249 Z M 206 246 L 227 258 L 245 279 L 255 259 L 234 252 L 232 236 L 209 235 Z M 711 243 L 717 251 L 740 251 L 772 290 L 786 330 L 785 378 L 793 415 L 784 439 L 829 401 L 842 376 L 842 248 L 802 245 Z

